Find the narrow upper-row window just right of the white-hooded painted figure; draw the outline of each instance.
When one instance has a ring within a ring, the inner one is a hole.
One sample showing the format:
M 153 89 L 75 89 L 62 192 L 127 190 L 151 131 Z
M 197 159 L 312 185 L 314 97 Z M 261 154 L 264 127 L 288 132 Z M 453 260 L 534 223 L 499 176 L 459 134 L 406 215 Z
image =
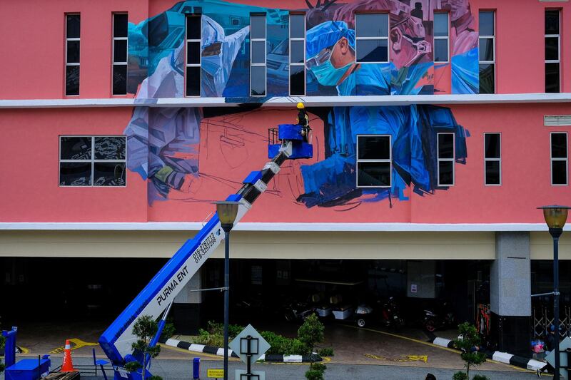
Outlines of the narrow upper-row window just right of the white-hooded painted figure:
M 250 95 L 266 96 L 266 15 L 250 16 Z

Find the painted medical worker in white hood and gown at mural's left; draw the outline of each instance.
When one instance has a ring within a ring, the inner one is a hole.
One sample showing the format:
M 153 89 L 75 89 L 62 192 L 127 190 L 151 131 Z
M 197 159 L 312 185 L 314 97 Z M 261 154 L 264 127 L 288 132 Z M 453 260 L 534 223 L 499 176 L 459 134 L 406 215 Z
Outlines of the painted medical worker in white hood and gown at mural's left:
M 203 96 L 221 96 L 233 61 L 249 33 L 249 26 L 231 36 L 208 16 L 201 17 Z M 161 58 L 148 76 L 136 98 L 182 97 L 184 94 L 184 44 Z M 136 107 L 125 128 L 128 168 L 153 187 L 149 202 L 165 198 L 171 188 L 190 191 L 198 178 L 200 108 Z

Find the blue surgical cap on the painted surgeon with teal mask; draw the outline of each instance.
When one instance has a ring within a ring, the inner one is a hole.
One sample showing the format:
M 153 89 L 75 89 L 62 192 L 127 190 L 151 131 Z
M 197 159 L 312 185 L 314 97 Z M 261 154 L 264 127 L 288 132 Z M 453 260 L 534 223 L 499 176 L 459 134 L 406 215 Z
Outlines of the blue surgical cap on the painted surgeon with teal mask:
M 308 30 L 305 39 L 307 58 L 312 58 L 324 48 L 335 45 L 341 38 L 347 38 L 349 45 L 355 48 L 355 31 L 347 27 L 345 21 L 326 21 Z

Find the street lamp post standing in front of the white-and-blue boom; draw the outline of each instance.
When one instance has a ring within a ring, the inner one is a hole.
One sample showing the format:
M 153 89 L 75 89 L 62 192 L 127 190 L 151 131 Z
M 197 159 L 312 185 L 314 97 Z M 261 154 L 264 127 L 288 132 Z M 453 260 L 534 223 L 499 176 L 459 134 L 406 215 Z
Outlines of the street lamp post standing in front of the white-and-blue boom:
M 216 202 L 216 213 L 224 230 L 224 380 L 228 380 L 228 316 L 230 309 L 230 231 L 240 202 Z

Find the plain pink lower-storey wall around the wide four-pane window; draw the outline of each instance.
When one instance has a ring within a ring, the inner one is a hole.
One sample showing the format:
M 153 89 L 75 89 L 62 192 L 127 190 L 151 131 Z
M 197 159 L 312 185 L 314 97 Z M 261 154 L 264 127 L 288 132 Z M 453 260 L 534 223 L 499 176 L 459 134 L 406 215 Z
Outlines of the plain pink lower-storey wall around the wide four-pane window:
M 146 222 L 146 183 L 59 187 L 59 135 L 121 135 L 128 108 L 2 110 L 1 222 Z

